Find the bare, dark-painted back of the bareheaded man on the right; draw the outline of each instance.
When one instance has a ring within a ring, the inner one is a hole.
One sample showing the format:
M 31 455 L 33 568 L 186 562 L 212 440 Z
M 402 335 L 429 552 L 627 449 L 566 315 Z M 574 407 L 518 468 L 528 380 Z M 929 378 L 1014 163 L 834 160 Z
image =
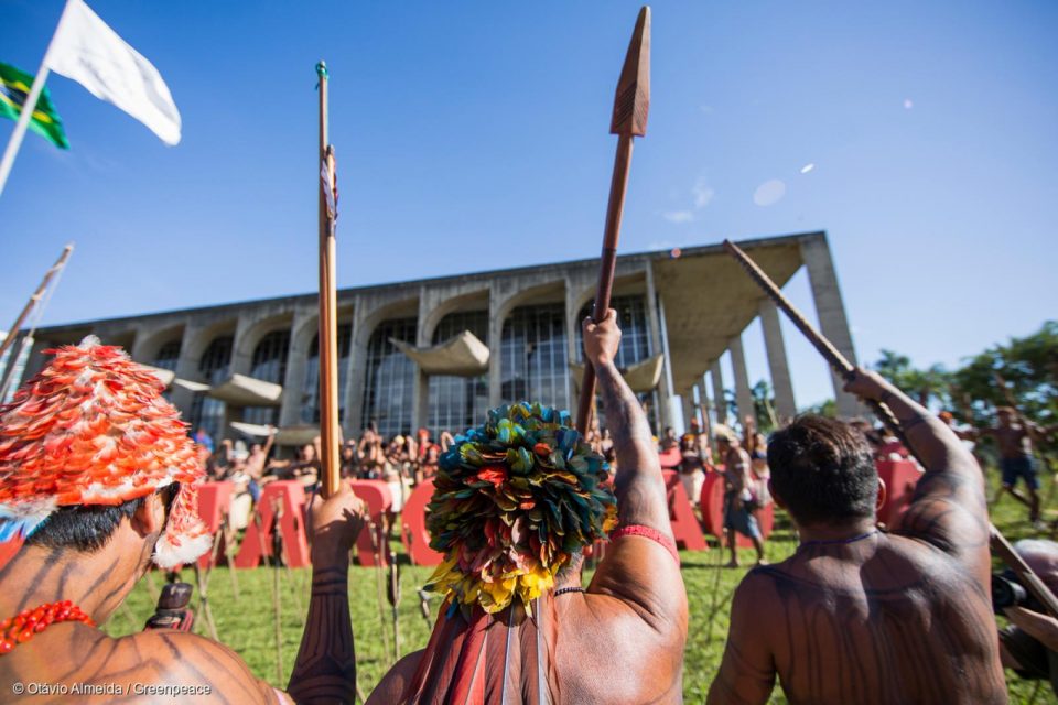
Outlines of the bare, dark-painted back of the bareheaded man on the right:
M 802 545 L 744 588 L 733 611 L 752 606 L 747 648 L 771 654 L 790 703 L 1006 702 L 989 595 L 928 543 Z

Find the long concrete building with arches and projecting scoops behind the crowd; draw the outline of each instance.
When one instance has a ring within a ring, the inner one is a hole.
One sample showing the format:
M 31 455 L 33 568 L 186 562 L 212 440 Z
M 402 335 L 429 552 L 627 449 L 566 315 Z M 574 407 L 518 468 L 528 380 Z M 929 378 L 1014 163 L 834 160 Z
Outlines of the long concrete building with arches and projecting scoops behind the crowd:
M 780 285 L 807 268 L 820 329 L 855 360 L 825 234 L 741 245 Z M 521 399 L 575 409 L 580 321 L 597 273 L 592 259 L 341 290 L 346 435 L 359 436 L 368 420 L 386 435 L 458 431 Z M 705 375 L 725 388 L 725 351 L 737 405 L 752 406 L 742 334 L 757 316 L 776 411 L 796 413 L 778 313 L 721 246 L 619 257 L 613 304 L 624 330 L 618 366 L 656 429 L 682 426 L 694 399 L 709 405 Z M 307 432 L 319 423 L 317 325 L 316 296 L 306 294 L 53 326 L 37 330 L 26 369 L 40 368 L 43 349 L 94 334 L 169 370 L 173 403 L 214 437 L 233 435 L 231 422 Z M 840 414 L 857 413 L 836 378 L 834 394 Z M 727 404 L 713 403 L 723 421 Z

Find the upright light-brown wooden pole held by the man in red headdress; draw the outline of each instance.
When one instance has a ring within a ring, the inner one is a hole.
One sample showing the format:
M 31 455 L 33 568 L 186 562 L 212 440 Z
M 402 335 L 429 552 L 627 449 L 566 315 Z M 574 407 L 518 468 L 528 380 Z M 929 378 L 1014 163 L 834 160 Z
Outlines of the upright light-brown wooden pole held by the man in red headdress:
M 320 471 L 324 498 L 338 489 L 338 328 L 335 279 L 337 183 L 334 147 L 327 143 L 327 65 L 320 77 Z

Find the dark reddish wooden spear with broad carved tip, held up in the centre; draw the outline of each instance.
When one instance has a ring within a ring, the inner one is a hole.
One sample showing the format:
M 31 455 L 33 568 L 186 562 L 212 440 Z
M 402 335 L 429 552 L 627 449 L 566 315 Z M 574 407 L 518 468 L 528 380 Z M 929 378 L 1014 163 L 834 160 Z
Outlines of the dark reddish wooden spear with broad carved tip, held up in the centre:
M 628 189 L 628 167 L 631 165 L 631 140 L 647 133 L 647 112 L 650 109 L 650 8 L 644 6 L 636 20 L 636 29 L 625 55 L 625 66 L 617 80 L 614 116 L 609 133 L 618 135 L 614 175 L 609 182 L 609 204 L 606 206 L 606 227 L 603 231 L 603 253 L 598 268 L 598 289 L 592 321 L 598 323 L 609 308 L 614 289 L 614 269 L 617 265 L 617 239 L 620 237 L 620 216 L 625 210 Z M 584 366 L 581 398 L 576 410 L 576 429 L 587 433 L 595 401 L 595 368 Z

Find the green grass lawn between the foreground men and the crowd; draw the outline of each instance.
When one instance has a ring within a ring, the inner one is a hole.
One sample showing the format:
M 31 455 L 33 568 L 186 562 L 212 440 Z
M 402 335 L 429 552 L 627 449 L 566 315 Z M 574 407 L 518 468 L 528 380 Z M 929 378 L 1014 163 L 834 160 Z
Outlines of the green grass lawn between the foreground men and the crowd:
M 990 475 L 990 479 L 993 485 L 997 481 L 994 473 Z M 1045 486 L 1044 496 L 1046 495 Z M 991 491 L 990 496 L 992 496 Z M 1058 501 L 1054 503 L 1058 505 Z M 1026 509 L 1010 497 L 1004 497 L 993 508 L 993 521 L 1011 541 L 1033 535 L 1026 514 Z M 681 552 L 683 578 L 691 608 L 683 672 L 683 692 L 688 703 L 701 703 L 705 698 L 724 649 L 731 596 L 747 570 L 719 567 L 725 554 L 716 550 L 714 540 L 710 541 L 710 546 L 711 550 L 706 552 Z M 776 531 L 767 544 L 768 560 L 781 561 L 792 554 L 796 546 L 789 522 L 784 516 L 778 514 Z M 743 553 L 742 558 L 745 565 L 752 563 L 752 551 Z M 398 617 L 399 651 L 403 654 L 420 649 L 427 643 L 430 625 L 420 614 L 415 590 L 427 579 L 432 568 L 402 565 L 401 571 L 402 599 Z M 279 654 L 276 650 L 276 611 L 272 598 L 277 571 L 273 568 L 237 571 L 239 594 L 236 598 L 235 586 L 228 570 L 216 568 L 209 577 L 208 595 L 220 640 L 241 654 L 250 669 L 261 679 L 274 685 L 284 686 L 301 642 L 301 630 L 309 599 L 310 574 L 307 570 L 282 568 L 278 574 L 281 614 L 279 638 L 282 644 Z M 162 583 L 160 575 L 151 577 L 153 579 L 141 581 L 126 606 L 119 609 L 106 625 L 110 633 L 125 634 L 142 628 L 148 616 L 153 612 L 152 594 L 156 593 L 158 586 Z M 376 581 L 381 578 L 382 576 L 374 568 L 357 566 L 352 568 L 349 579 L 358 680 L 365 693 L 371 692 L 393 662 L 389 605 L 386 604 L 381 615 L 378 607 Z M 190 571 L 185 572 L 184 579 L 194 583 Z M 431 603 L 431 619 L 436 614 L 439 604 L 440 600 L 434 597 Z M 205 620 L 202 615 L 197 617 L 195 630 L 207 634 Z M 1056 702 L 1047 685 L 1037 691 L 1036 683 L 1021 681 L 1010 671 L 1007 679 L 1013 703 Z M 773 702 L 786 702 L 778 688 L 773 696 Z

